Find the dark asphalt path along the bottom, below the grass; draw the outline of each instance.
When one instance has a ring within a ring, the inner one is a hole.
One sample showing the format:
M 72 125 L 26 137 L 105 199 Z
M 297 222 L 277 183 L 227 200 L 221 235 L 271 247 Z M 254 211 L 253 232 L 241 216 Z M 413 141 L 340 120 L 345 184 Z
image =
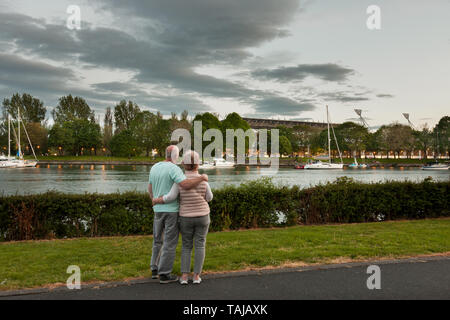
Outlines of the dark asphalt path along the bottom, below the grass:
M 381 289 L 367 288 L 368 265 L 381 269 Z M 206 276 L 205 276 L 206 278 Z M 450 257 L 351 263 L 209 276 L 200 285 L 132 285 L 54 290 L 0 299 L 450 299 Z

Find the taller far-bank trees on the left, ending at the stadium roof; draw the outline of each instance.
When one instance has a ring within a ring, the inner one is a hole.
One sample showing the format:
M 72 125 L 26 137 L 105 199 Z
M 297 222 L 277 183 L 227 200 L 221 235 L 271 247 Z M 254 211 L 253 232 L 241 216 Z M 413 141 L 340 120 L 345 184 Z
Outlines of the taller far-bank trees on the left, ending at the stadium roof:
M 7 118 L 17 118 L 20 109 L 21 119 L 25 123 L 30 140 L 38 155 L 97 155 L 133 157 L 150 156 L 157 150 L 160 156 L 171 141 L 175 129 L 192 130 L 188 120 L 188 111 L 181 115 L 172 113 L 164 119 L 160 112 L 142 110 L 132 101 L 122 100 L 114 108 L 106 109 L 103 126 L 94 110 L 81 97 L 72 95 L 59 99 L 58 105 L 51 111 L 53 125 L 48 125 L 47 109 L 39 99 L 29 94 L 14 94 L 3 101 L 3 120 L 0 125 L 0 146 L 6 153 L 8 144 Z M 237 114 L 229 114 L 219 121 L 217 115 L 204 113 L 196 115 L 195 120 L 203 120 L 203 132 L 207 128 L 250 128 L 248 123 Z M 17 126 L 15 127 L 17 129 Z M 24 135 L 24 133 L 22 133 Z M 23 139 L 22 150 L 30 154 L 31 148 Z M 16 152 L 16 144 L 12 144 Z

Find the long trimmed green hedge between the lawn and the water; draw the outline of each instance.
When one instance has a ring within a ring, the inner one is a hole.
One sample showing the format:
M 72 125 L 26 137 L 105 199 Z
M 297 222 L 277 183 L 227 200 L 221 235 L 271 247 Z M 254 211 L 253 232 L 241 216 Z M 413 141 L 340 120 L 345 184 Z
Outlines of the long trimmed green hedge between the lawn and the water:
M 214 191 L 211 230 L 450 216 L 450 182 L 355 183 L 309 189 L 260 179 Z M 151 234 L 145 193 L 0 197 L 0 240 Z

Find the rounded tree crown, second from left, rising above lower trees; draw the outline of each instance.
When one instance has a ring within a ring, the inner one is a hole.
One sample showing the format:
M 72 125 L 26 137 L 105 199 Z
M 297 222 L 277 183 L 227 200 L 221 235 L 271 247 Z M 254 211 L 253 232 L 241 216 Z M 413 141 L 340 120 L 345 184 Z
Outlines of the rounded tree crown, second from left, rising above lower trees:
M 74 120 L 89 120 L 95 122 L 94 112 L 87 102 L 81 97 L 64 96 L 59 99 L 59 104 L 52 111 L 55 123 L 64 123 Z

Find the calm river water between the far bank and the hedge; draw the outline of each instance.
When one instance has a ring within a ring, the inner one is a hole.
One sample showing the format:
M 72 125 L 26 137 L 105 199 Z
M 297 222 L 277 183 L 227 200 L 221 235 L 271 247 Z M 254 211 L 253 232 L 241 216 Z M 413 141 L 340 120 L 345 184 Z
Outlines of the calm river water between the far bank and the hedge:
M 1 169 L 0 192 L 3 194 L 41 193 L 57 190 L 65 193 L 147 190 L 150 166 L 118 165 L 45 165 L 37 168 Z M 226 184 L 238 185 L 261 176 L 273 178 L 283 185 L 314 186 L 349 176 L 362 182 L 385 180 L 421 181 L 431 176 L 437 181 L 448 181 L 450 171 L 423 171 L 420 168 L 401 169 L 345 169 L 331 171 L 295 170 L 282 168 L 276 174 L 263 172 L 256 167 L 222 168 L 204 170 L 209 175 L 212 188 Z

